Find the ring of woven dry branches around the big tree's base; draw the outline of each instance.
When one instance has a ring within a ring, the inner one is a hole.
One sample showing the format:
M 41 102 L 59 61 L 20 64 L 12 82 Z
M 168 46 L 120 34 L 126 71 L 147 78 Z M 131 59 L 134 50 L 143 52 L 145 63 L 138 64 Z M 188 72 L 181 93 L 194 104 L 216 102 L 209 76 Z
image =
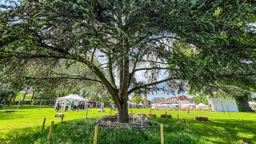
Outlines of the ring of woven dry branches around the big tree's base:
M 132 128 L 132 129 L 141 129 L 146 128 L 145 126 L 148 125 L 148 118 L 146 116 L 136 116 L 136 115 L 128 115 L 129 121 L 135 121 L 136 123 L 117 123 L 117 115 L 110 115 L 110 116 L 104 116 L 96 121 L 96 124 L 99 125 L 99 127 L 103 128 L 117 128 L 117 129 L 123 129 L 123 128 Z M 151 122 L 150 122 L 151 123 Z M 153 126 L 154 124 L 151 123 Z

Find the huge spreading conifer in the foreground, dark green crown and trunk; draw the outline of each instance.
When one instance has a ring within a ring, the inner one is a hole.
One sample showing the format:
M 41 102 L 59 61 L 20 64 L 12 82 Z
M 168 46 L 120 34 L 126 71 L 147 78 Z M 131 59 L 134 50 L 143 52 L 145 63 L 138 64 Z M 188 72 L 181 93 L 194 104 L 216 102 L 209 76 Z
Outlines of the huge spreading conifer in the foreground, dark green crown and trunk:
M 7 0 L 0 10 L 1 64 L 19 76 L 22 65 L 40 69 L 30 79 L 100 83 L 116 103 L 118 121 L 127 123 L 132 92 L 213 94 L 228 91 L 223 82 L 229 81 L 237 90 L 255 87 L 255 6 L 240 0 Z M 57 73 L 60 62 L 81 68 Z

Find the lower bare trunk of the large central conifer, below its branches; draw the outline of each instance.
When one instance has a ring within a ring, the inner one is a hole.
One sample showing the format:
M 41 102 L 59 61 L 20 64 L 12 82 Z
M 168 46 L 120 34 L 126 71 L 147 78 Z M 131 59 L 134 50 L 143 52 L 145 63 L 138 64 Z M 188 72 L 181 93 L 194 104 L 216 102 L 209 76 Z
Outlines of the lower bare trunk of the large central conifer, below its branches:
M 127 101 L 120 108 L 117 107 L 118 123 L 129 123 Z

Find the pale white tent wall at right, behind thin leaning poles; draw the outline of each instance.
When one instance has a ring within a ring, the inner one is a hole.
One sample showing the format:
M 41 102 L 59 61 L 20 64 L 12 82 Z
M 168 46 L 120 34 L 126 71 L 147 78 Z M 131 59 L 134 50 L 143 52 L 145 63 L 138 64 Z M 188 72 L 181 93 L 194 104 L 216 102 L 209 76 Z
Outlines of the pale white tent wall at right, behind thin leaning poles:
M 223 108 L 222 108 L 220 99 L 218 97 L 210 99 L 212 111 L 217 111 L 217 109 L 215 107 L 217 101 L 218 101 L 218 106 L 217 106 L 218 111 L 223 112 L 223 108 L 224 108 L 225 112 L 228 111 L 228 110 L 229 110 L 229 112 L 239 112 L 238 108 L 237 108 L 237 105 L 236 105 L 236 100 L 234 98 L 229 99 L 228 108 L 227 108 L 227 105 L 226 105 L 226 99 L 221 98 L 221 101 L 222 101 L 222 104 L 223 104 Z

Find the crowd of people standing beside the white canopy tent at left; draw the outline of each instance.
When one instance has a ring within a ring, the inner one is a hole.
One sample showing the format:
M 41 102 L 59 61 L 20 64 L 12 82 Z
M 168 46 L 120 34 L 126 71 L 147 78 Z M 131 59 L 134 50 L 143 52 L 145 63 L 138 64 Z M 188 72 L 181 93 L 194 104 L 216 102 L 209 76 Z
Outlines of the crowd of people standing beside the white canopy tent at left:
M 61 112 L 63 112 L 63 109 L 64 112 L 68 111 L 68 110 L 72 110 L 72 111 L 79 111 L 80 110 L 87 110 L 88 107 L 91 107 L 92 108 L 92 104 L 89 104 L 88 101 L 77 101 L 77 100 L 73 100 L 73 101 L 69 101 L 67 100 L 66 102 L 62 102 L 62 100 L 58 101 L 57 104 L 55 105 L 56 108 L 55 108 L 55 111 L 57 110 Z

